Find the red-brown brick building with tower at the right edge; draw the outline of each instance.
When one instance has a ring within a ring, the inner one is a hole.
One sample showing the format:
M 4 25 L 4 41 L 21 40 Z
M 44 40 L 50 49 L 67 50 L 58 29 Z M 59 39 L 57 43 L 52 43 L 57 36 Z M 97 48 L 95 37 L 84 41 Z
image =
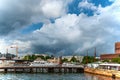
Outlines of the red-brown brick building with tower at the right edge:
M 113 58 L 120 57 L 120 42 L 115 43 L 115 53 L 114 54 L 101 54 L 100 59 L 101 60 L 111 60 Z

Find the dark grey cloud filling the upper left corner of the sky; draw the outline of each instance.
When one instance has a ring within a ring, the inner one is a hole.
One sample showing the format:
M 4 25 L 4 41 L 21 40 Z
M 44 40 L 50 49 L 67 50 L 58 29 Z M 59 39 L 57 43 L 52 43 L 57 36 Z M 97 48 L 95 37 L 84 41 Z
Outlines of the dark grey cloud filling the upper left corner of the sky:
M 0 35 L 6 35 L 10 32 L 20 29 L 30 23 L 31 17 L 35 15 L 32 12 L 32 7 L 34 8 L 40 1 L 4 1 L 4 6 L 0 8 Z M 18 4 L 19 3 L 19 4 Z

